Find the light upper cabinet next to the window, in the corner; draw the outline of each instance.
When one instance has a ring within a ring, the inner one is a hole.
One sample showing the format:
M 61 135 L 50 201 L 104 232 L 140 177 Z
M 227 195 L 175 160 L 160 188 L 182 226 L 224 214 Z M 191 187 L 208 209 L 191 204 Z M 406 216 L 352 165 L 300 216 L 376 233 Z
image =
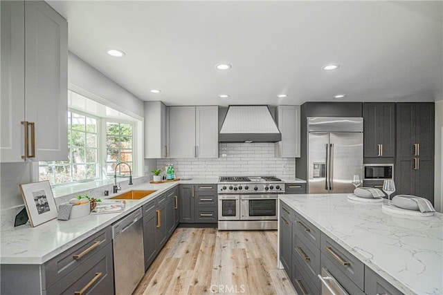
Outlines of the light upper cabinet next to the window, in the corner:
M 162 102 L 144 102 L 145 158 L 169 157 L 169 108 Z

